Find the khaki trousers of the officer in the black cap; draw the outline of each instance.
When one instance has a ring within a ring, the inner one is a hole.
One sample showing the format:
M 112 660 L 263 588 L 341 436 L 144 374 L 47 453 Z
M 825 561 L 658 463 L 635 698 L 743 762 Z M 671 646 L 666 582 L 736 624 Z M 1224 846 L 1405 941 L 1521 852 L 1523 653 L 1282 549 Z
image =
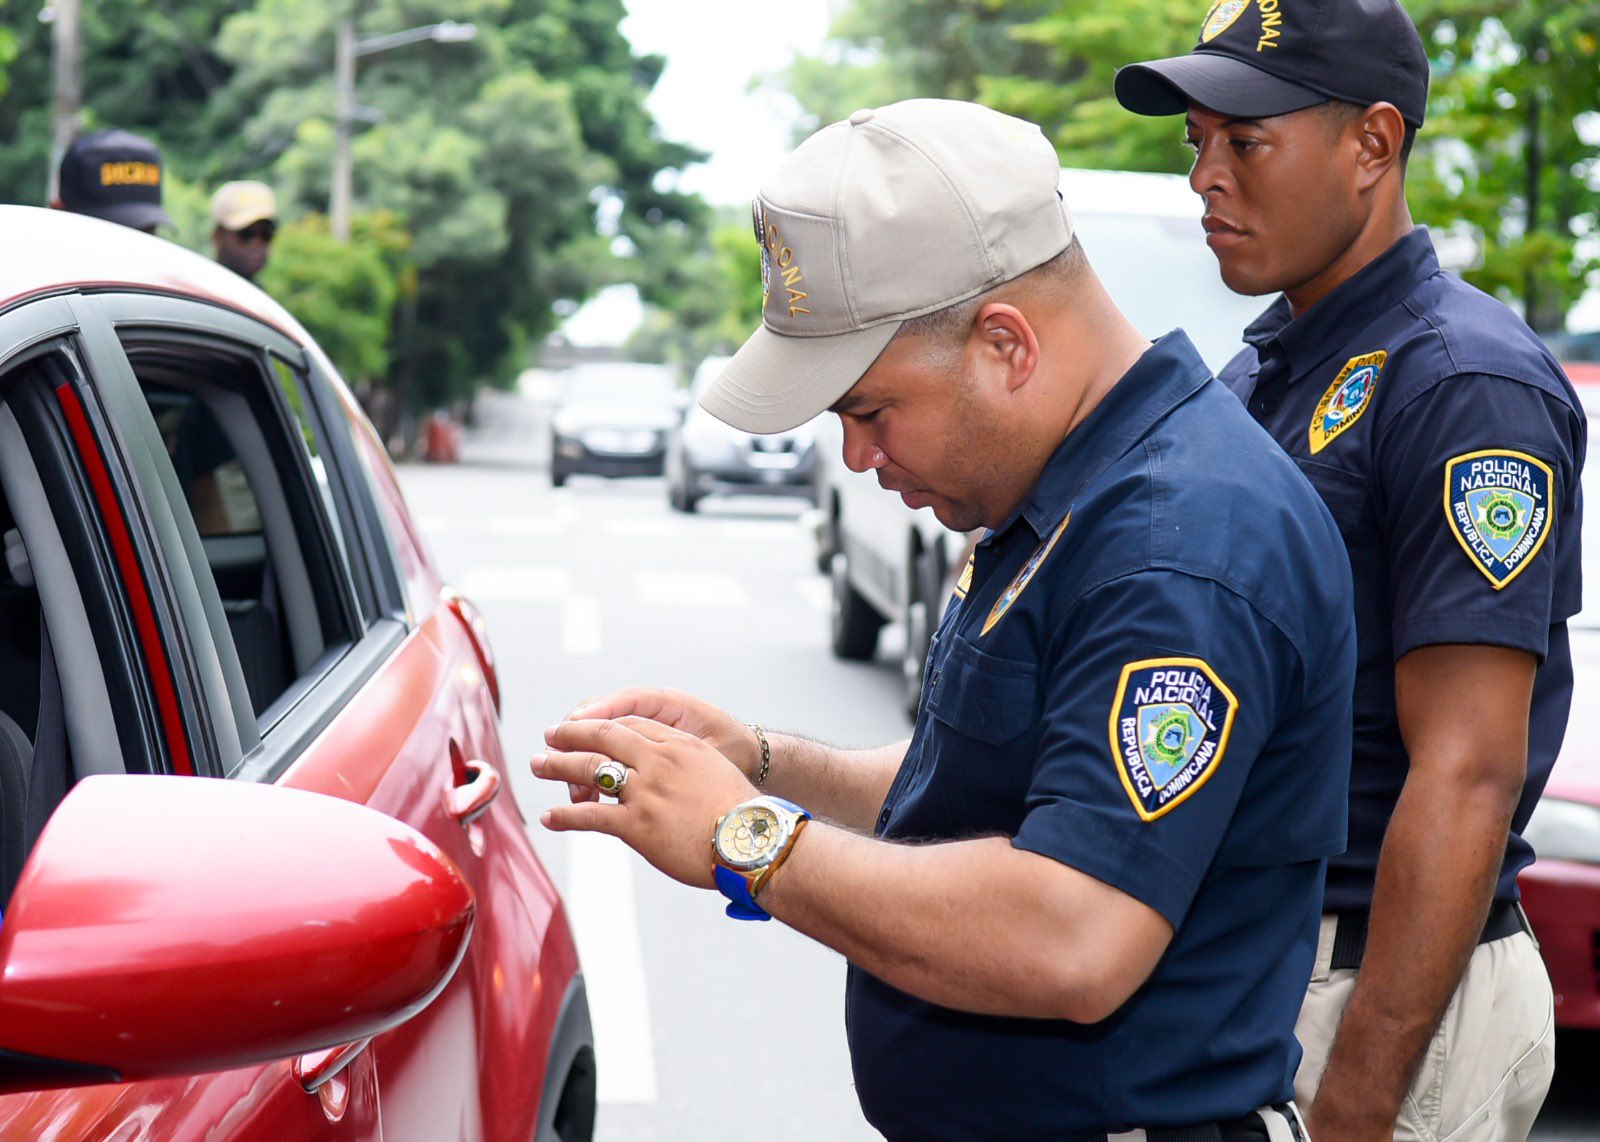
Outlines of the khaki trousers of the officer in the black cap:
M 1355 990 L 1330 969 L 1334 918 L 1322 918 L 1317 966 L 1294 1035 L 1306 1054 L 1294 1100 L 1310 1107 L 1333 1035 Z M 1555 1076 L 1555 1001 L 1528 932 L 1480 944 L 1400 1108 L 1397 1142 L 1522 1142 Z M 1315 1139 L 1312 1140 L 1315 1142 Z

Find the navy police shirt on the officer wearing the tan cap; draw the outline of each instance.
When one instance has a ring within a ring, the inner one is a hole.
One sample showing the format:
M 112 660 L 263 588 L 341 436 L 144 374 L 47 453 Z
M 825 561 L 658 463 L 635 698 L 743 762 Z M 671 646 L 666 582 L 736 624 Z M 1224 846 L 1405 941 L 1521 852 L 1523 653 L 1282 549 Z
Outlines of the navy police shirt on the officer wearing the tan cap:
M 878 833 L 1011 837 L 1176 934 L 1094 1025 L 958 1012 L 851 968 L 869 1121 L 890 1139 L 1072 1139 L 1288 1099 L 1346 833 L 1355 629 L 1328 510 L 1173 333 L 968 571 Z

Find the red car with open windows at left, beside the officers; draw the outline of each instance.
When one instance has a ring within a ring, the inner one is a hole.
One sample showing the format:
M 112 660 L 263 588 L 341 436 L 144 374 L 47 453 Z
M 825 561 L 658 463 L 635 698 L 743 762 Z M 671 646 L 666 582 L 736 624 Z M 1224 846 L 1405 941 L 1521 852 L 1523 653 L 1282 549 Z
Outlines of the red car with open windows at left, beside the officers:
M 266 294 L 0 206 L 0 1137 L 589 1139 L 482 619 Z

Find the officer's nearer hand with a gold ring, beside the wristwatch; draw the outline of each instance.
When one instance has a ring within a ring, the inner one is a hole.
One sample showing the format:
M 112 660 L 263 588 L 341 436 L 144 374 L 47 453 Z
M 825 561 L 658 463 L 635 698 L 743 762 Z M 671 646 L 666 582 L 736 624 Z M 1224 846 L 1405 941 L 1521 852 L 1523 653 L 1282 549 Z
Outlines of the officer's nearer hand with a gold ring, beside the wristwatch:
M 547 809 L 539 817 L 546 829 L 610 833 L 674 880 L 715 888 L 710 840 L 717 817 L 755 797 L 726 757 L 693 734 L 642 717 L 563 721 L 544 739 L 550 750 L 533 758 L 536 777 L 592 790 L 595 768 L 606 758 L 629 768 L 616 805 L 586 800 Z

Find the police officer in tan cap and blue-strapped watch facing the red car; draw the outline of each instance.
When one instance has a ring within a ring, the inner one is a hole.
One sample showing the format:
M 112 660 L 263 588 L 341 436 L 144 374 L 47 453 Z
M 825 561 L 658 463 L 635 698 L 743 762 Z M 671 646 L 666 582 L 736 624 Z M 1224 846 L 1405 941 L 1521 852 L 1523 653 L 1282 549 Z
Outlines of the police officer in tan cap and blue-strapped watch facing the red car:
M 1344 845 L 1349 569 L 1189 339 L 1115 309 L 1058 179 L 1037 126 L 973 104 L 822 130 L 762 190 L 763 326 L 704 397 L 752 432 L 832 409 L 846 464 L 992 529 L 910 742 L 627 691 L 549 731 L 534 773 L 578 803 L 544 822 L 846 955 L 893 1139 L 1286 1142 Z M 744 1003 L 717 1014 L 730 1072 L 782 1052 L 782 1012 Z

